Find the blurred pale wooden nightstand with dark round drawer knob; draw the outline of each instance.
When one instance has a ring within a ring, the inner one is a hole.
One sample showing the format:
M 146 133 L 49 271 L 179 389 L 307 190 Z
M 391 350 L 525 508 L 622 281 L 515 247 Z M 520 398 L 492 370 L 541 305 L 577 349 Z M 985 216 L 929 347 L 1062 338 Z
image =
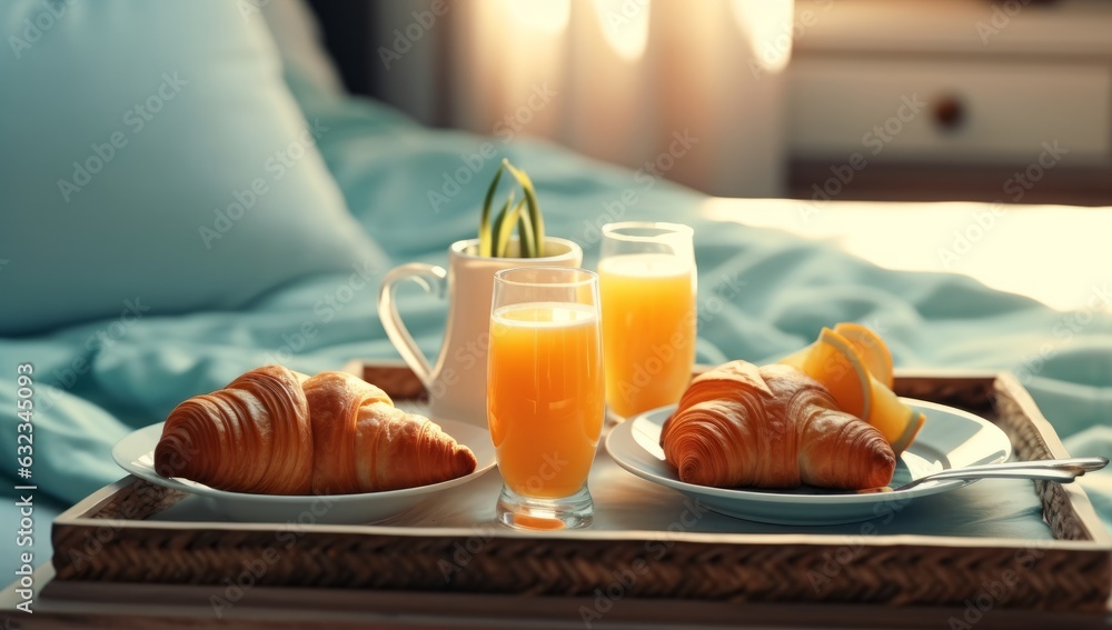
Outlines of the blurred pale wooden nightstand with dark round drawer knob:
M 1112 203 L 1112 4 L 800 1 L 788 194 Z

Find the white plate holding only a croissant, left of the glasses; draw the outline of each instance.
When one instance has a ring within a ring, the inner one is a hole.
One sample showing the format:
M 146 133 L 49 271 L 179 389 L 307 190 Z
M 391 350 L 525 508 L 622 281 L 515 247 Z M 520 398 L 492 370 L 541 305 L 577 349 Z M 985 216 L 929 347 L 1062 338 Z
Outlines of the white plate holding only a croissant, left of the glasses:
M 161 422 L 139 429 L 120 440 L 112 448 L 112 459 L 123 470 L 140 479 L 202 497 L 216 511 L 236 521 L 371 523 L 400 514 L 430 494 L 463 486 L 494 468 L 494 446 L 486 429 L 453 420 L 439 420 L 437 424 L 459 443 L 471 449 L 478 460 L 475 472 L 431 486 L 386 492 L 328 497 L 248 494 L 216 490 L 188 479 L 168 479 L 155 472 L 155 444 L 162 434 Z

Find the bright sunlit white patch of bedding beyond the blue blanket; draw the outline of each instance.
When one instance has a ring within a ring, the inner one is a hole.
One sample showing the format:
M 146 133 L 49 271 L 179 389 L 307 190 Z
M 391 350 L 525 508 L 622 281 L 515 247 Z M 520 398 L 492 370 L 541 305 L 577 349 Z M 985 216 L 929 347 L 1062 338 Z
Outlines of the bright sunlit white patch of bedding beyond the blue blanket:
M 1006 218 L 996 219 L 992 238 L 960 242 L 966 232 L 977 236 L 974 217 L 986 208 L 966 202 L 896 206 L 868 201 L 820 208 L 794 199 L 763 199 L 754 204 L 712 198 L 699 214 L 833 241 L 843 251 L 888 269 L 964 273 L 993 289 L 1060 310 L 1084 308 L 1095 288 L 1108 284 L 1106 234 L 1112 233 L 1112 216 L 1094 217 L 1086 208 L 1009 208 Z M 1046 238 L 1063 233 L 1063 226 L 1074 222 L 1093 229 L 1070 232 L 1070 238 Z M 954 262 L 942 250 L 956 251 L 961 259 Z

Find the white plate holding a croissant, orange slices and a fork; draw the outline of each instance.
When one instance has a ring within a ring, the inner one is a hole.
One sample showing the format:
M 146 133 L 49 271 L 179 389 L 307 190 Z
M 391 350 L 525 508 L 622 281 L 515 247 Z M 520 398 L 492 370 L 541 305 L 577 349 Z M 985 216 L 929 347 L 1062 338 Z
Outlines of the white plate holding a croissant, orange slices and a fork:
M 1007 460 L 1012 444 L 995 424 L 960 409 L 901 399 L 926 414 L 911 448 L 900 456 L 891 488 L 932 472 Z M 909 501 L 967 486 L 969 481 L 927 481 L 900 492 L 857 494 L 820 488 L 741 490 L 684 483 L 664 460 L 661 427 L 675 406 L 646 411 L 616 427 L 606 450 L 622 468 L 697 499 L 707 508 L 738 519 L 775 524 L 840 524 L 884 517 Z

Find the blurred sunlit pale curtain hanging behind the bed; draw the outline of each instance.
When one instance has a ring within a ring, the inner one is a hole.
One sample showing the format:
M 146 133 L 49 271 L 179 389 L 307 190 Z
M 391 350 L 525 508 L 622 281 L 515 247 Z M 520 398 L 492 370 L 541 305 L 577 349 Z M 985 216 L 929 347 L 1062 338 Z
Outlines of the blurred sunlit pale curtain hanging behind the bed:
M 431 7 L 381 2 L 379 41 Z M 712 194 L 783 193 L 792 0 L 440 7 L 383 73 L 389 99 L 418 117 L 502 139 L 548 138 Z

